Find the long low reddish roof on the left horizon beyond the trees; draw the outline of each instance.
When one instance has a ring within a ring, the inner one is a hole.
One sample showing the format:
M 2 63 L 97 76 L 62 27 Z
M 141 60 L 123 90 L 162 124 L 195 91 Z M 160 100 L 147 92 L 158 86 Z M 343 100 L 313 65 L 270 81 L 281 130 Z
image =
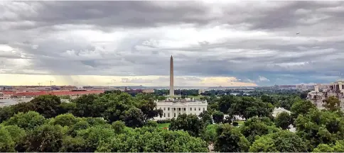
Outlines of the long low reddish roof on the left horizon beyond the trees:
M 100 94 L 104 91 L 38 91 L 38 92 L 21 92 L 16 93 L 14 96 L 41 96 L 41 95 L 55 95 L 55 96 L 65 96 L 65 95 L 76 95 L 76 94 Z

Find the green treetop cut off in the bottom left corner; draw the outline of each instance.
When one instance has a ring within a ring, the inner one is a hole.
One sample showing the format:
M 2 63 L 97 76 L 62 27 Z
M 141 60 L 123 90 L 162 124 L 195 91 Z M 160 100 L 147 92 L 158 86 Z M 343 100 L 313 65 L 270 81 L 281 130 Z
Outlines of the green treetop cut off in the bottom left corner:
M 0 127 L 0 152 L 14 152 L 14 145 L 11 134 Z

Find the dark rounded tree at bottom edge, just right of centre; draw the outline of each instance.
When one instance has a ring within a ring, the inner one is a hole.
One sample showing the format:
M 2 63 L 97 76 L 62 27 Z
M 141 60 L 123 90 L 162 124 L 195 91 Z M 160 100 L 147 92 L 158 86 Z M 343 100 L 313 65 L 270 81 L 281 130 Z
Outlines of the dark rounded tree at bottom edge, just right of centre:
M 229 124 L 221 125 L 217 128 L 214 150 L 216 152 L 247 152 L 249 142 L 238 128 Z

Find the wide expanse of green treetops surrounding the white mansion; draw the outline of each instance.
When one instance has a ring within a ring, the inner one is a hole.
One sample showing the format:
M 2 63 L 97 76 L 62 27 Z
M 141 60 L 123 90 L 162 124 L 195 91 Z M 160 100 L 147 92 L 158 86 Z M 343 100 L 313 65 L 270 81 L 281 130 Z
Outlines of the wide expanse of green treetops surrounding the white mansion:
M 109 91 L 70 103 L 46 95 L 4 106 L 0 152 L 208 152 L 210 144 L 217 152 L 344 152 L 336 98 L 319 111 L 300 94 L 205 96 L 208 111 L 166 120 L 168 130 L 151 120 L 162 113 L 158 98 Z M 272 117 L 276 106 L 291 114 Z M 247 120 L 238 124 L 234 115 Z

